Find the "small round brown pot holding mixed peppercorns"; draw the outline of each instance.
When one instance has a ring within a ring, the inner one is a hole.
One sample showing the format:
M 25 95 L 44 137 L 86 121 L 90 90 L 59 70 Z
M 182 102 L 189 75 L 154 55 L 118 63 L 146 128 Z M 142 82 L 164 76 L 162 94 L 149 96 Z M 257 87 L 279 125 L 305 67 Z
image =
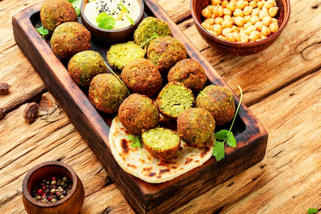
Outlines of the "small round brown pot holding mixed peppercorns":
M 67 176 L 72 181 L 71 191 L 67 196 L 54 203 L 43 203 L 32 198 L 36 183 L 44 178 Z M 48 161 L 33 167 L 23 181 L 23 203 L 29 214 L 77 214 L 81 210 L 85 199 L 84 186 L 74 170 L 65 163 Z

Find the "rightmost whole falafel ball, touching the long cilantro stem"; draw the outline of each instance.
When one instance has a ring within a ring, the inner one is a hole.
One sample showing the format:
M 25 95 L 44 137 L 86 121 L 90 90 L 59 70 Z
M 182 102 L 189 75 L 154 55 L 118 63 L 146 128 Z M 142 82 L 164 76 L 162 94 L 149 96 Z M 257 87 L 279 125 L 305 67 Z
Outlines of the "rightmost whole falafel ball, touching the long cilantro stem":
M 224 87 L 209 85 L 196 97 L 196 107 L 211 112 L 216 125 L 223 125 L 233 119 L 235 103 L 232 92 Z

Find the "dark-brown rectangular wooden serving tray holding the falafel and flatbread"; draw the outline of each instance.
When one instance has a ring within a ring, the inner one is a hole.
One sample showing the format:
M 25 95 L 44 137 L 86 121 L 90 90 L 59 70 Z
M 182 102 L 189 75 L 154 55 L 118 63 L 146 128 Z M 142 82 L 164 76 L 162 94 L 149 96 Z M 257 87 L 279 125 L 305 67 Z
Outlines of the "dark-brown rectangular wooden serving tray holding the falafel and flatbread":
M 190 58 L 204 67 L 209 82 L 231 90 L 157 2 L 144 0 L 144 3 L 146 15 L 169 23 L 173 37 L 185 45 Z M 237 147 L 226 147 L 223 160 L 216 162 L 212 157 L 202 166 L 160 184 L 144 182 L 125 172 L 113 158 L 108 142 L 111 115 L 102 114 L 93 107 L 84 91 L 70 77 L 66 62 L 58 59 L 48 40 L 45 41 L 34 28 L 39 22 L 42 4 L 38 3 L 12 17 L 15 41 L 137 213 L 170 212 L 264 158 L 268 133 L 242 104 L 233 128 Z M 107 47 L 93 44 L 91 49 L 95 48 L 106 56 Z M 233 94 L 237 105 L 239 100 Z

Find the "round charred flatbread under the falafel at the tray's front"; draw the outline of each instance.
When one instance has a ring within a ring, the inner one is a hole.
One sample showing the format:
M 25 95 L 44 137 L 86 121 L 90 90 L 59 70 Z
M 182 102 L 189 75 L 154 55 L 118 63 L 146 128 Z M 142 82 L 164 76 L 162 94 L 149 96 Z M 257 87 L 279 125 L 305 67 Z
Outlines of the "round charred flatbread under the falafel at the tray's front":
M 131 141 L 127 140 L 129 134 L 116 115 L 112 120 L 109 134 L 112 154 L 126 172 L 148 183 L 172 180 L 212 157 L 213 146 L 192 147 L 181 141 L 180 149 L 174 156 L 166 162 L 160 162 L 144 148 L 144 145 L 141 147 L 142 153 L 139 148 L 132 147 Z M 208 140 L 208 145 L 213 144 L 214 134 Z

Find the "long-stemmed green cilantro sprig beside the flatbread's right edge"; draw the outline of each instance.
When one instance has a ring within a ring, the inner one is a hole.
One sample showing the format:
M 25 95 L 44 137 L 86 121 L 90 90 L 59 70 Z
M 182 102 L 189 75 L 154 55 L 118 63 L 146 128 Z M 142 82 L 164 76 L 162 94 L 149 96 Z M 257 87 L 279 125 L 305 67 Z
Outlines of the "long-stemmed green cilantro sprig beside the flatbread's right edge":
M 214 147 L 213 147 L 213 156 L 215 157 L 216 161 L 220 161 L 224 158 L 224 155 L 225 155 L 224 143 L 225 142 L 227 145 L 231 146 L 232 148 L 236 147 L 236 140 L 235 140 L 234 135 L 231 130 L 232 130 L 233 124 L 235 122 L 235 118 L 236 118 L 238 109 L 239 109 L 240 104 L 242 103 L 242 99 L 243 99 L 242 89 L 239 86 L 237 86 L 237 87 L 240 90 L 240 99 L 239 99 L 239 103 L 238 103 L 238 106 L 235 111 L 235 115 L 234 115 L 231 127 L 229 130 L 220 130 L 215 133 L 215 143 L 214 143 Z

